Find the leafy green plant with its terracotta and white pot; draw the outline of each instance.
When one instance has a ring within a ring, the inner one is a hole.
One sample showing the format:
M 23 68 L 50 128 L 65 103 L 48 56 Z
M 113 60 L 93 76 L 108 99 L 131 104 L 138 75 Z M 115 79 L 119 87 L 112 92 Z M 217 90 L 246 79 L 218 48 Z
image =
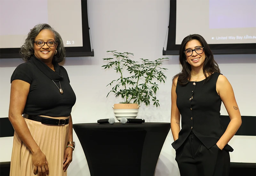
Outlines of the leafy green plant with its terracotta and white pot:
M 133 53 L 118 53 L 116 51 L 107 51 L 107 53 L 112 53 L 114 57 L 104 58 L 103 60 L 109 62 L 102 67 L 104 69 L 112 68 L 120 75 L 119 78 L 107 85 L 112 86 L 108 95 L 112 92 L 116 97 L 121 96 L 123 99 L 122 102 L 113 106 L 117 120 L 122 117 L 136 118 L 142 103 L 148 106 L 152 101 L 153 105 L 158 107 L 160 104 L 159 100 L 156 99 L 158 90 L 156 81 L 165 82 L 166 76 L 163 71 L 167 69 L 160 66 L 164 59 L 168 58 L 155 61 L 140 59 L 140 62 L 138 62 L 129 58 L 129 56 L 134 56 Z

